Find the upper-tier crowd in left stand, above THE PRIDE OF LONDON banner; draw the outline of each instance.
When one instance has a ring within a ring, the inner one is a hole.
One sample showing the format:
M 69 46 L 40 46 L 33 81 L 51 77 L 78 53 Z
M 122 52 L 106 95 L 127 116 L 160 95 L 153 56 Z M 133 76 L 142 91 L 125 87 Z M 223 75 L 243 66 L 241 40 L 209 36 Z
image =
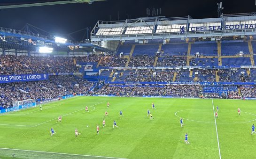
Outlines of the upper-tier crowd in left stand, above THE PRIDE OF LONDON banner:
M 0 74 L 69 73 L 77 72 L 73 58 L 0 56 Z

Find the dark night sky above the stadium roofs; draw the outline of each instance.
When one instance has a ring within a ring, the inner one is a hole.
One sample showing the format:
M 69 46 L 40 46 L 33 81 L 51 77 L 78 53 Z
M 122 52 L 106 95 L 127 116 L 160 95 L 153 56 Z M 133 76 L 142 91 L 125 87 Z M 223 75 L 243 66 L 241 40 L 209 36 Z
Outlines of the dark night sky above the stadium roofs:
M 0 0 L 1 2 L 2 0 Z M 146 17 L 146 8 L 162 8 L 166 17 L 191 15 L 217 17 L 217 2 L 223 2 L 224 14 L 256 12 L 255 0 L 107 0 L 93 4 L 64 4 L 40 7 L 0 9 L 0 27 L 22 29 L 26 23 L 51 33 L 67 34 L 93 27 L 98 20 L 125 20 Z M 83 33 L 79 33 L 80 35 Z M 73 35 L 81 40 L 79 35 Z

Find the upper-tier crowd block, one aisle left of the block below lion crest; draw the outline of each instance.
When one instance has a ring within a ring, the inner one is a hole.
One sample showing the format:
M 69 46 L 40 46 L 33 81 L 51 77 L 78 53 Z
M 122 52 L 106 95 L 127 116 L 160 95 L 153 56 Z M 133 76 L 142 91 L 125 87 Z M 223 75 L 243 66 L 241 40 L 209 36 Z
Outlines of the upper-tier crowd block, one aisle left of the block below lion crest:
M 129 67 L 152 67 L 155 62 L 154 56 L 132 56 L 128 64 Z

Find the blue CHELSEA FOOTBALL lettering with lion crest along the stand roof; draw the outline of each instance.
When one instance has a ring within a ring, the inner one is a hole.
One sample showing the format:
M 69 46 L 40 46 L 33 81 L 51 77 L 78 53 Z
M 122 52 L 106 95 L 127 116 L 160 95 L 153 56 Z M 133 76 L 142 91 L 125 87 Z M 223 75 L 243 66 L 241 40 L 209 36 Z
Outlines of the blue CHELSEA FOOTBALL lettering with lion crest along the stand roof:
M 180 32 L 185 33 L 187 31 L 216 31 L 216 30 L 237 30 L 237 29 L 256 29 L 256 24 L 236 24 L 236 25 L 225 25 L 222 28 L 221 25 L 217 26 L 196 26 L 196 27 L 189 27 L 186 29 L 185 26 L 180 27 Z

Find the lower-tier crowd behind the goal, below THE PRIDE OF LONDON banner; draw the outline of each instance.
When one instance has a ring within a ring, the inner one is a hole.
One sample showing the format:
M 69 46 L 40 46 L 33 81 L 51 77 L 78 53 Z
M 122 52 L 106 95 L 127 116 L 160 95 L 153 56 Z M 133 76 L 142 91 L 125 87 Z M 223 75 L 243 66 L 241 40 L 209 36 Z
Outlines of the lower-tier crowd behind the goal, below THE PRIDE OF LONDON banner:
M 43 101 L 67 94 L 88 94 L 92 86 L 93 83 L 72 76 L 50 76 L 49 80 L 1 84 L 0 107 L 11 107 L 12 101 L 33 98 Z

